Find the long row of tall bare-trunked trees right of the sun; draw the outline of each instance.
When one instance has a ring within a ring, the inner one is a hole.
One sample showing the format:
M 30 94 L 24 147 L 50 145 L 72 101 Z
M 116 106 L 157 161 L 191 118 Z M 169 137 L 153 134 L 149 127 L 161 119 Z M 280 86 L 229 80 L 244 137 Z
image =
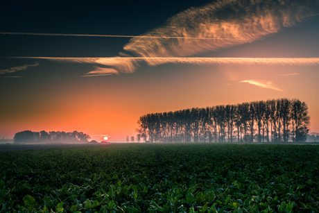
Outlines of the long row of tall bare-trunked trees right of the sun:
M 304 142 L 308 106 L 298 99 L 252 101 L 145 114 L 137 122 L 144 142 Z

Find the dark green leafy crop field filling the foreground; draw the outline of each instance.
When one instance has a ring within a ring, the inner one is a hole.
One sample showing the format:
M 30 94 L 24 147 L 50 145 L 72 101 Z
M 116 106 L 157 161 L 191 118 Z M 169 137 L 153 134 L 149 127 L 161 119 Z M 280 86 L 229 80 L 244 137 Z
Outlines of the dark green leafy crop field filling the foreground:
M 318 212 L 319 146 L 119 144 L 0 153 L 1 212 Z

